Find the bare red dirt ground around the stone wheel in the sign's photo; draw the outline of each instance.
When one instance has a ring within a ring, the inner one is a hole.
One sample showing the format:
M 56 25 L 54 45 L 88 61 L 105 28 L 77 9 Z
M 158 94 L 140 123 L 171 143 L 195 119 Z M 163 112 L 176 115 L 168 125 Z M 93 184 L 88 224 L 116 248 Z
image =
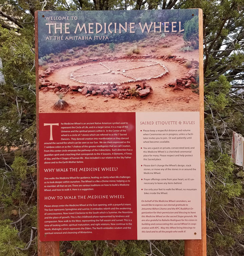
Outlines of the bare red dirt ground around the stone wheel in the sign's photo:
M 168 48 L 159 47 L 157 52 L 152 53 L 150 51 L 150 47 L 140 48 L 141 54 L 150 54 L 150 55 L 167 55 L 169 53 L 173 53 L 174 55 L 184 57 L 191 60 L 199 61 L 198 50 L 194 50 L 192 52 L 180 52 L 179 49 L 182 47 L 184 43 L 182 37 L 174 37 L 171 36 L 172 43 Z M 175 39 L 174 39 L 175 38 Z M 152 47 L 153 48 L 153 47 Z M 117 52 L 114 56 L 121 56 L 124 54 L 122 52 Z M 139 55 L 139 56 L 140 56 Z M 139 97 L 133 97 L 132 99 L 120 100 L 118 98 L 110 99 L 108 98 L 107 102 L 104 102 L 105 99 L 103 96 L 89 96 L 84 97 L 81 93 L 76 94 L 66 94 L 64 96 L 64 100 L 69 104 L 69 107 L 66 110 L 62 110 L 60 112 L 170 112 L 170 111 L 199 111 L 199 95 L 192 92 L 190 88 L 185 88 L 183 91 L 181 90 L 172 90 L 172 88 L 164 88 L 164 84 L 174 81 L 175 79 L 182 78 L 189 69 L 187 69 L 184 65 L 179 65 L 177 62 L 165 62 L 161 61 L 161 59 L 150 58 L 146 60 L 157 61 L 165 65 L 168 69 L 169 73 L 164 75 L 162 78 L 151 79 L 147 81 L 148 84 L 151 85 L 153 89 L 153 94 L 148 95 L 146 99 L 141 99 Z M 116 62 L 116 61 L 115 61 Z M 105 62 L 104 62 L 105 63 Z M 94 63 L 95 64 L 95 63 Z M 117 70 L 117 65 L 115 64 L 115 68 Z M 85 66 L 85 65 L 84 65 Z M 79 83 L 74 82 L 69 79 L 70 73 L 78 68 L 79 66 L 71 66 L 65 67 L 62 69 L 55 70 L 55 72 L 48 77 L 48 79 L 52 82 L 58 82 L 60 84 L 70 84 L 70 85 L 78 85 Z M 109 66 L 110 67 L 110 66 Z M 98 71 L 98 70 L 97 70 Z M 133 74 L 131 70 L 130 74 Z M 155 71 L 155 67 L 147 67 L 147 73 L 153 73 Z M 89 71 L 90 72 L 90 71 Z M 141 73 L 140 73 L 141 72 Z M 77 71 L 78 73 L 78 71 Z M 92 71 L 91 71 L 92 73 Z M 143 69 L 136 69 L 136 76 L 145 77 L 145 71 Z M 77 75 L 77 74 L 74 74 Z M 106 81 L 104 81 L 104 77 L 101 80 L 103 81 L 94 81 L 94 82 L 113 82 L 115 79 L 115 75 L 113 74 L 105 74 Z M 89 76 L 87 76 L 88 78 Z M 121 82 L 129 80 L 128 78 L 123 78 L 120 75 Z M 77 78 L 83 80 L 82 78 Z M 117 79 L 116 79 L 117 80 Z M 93 82 L 93 81 L 90 81 Z M 137 83 L 128 83 L 130 87 L 135 87 Z M 54 92 L 39 92 L 39 111 L 40 113 L 57 113 L 58 110 L 54 110 L 52 108 L 53 104 L 58 100 L 57 95 Z

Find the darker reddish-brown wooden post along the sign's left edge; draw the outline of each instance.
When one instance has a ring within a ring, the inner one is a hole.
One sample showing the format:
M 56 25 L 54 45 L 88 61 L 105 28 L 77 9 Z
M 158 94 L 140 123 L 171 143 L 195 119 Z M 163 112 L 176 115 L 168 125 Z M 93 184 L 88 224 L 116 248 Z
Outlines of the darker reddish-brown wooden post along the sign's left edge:
M 36 49 L 36 122 L 37 122 L 37 230 L 38 256 L 59 256 L 59 242 L 40 242 L 39 223 L 39 74 L 38 74 L 38 11 L 35 12 L 35 49 Z

